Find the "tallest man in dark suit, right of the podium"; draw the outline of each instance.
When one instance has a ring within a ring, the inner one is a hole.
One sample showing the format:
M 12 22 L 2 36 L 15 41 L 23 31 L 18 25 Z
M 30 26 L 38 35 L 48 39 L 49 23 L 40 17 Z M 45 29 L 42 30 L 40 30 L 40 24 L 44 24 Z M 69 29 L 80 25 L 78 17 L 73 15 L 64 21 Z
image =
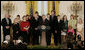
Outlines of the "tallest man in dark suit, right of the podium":
M 51 42 L 51 35 L 52 35 L 52 33 L 53 33 L 53 35 L 54 35 L 54 21 L 55 21 L 55 19 L 57 19 L 56 18 L 57 16 L 55 16 L 55 11 L 54 10 L 52 10 L 51 11 L 51 15 L 50 15 L 50 27 L 51 27 L 51 34 L 50 34 L 50 42 Z M 54 39 L 55 40 L 55 39 Z

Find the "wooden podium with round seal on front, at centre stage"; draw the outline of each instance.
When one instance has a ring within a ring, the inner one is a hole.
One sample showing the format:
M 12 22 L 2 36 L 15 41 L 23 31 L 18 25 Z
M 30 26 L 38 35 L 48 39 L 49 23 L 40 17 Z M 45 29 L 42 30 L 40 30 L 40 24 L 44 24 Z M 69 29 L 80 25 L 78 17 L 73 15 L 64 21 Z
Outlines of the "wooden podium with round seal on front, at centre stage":
M 41 37 L 40 37 L 40 45 L 41 46 L 47 46 L 46 44 L 46 31 L 50 29 L 49 26 L 41 25 L 38 26 L 38 29 L 41 32 Z

